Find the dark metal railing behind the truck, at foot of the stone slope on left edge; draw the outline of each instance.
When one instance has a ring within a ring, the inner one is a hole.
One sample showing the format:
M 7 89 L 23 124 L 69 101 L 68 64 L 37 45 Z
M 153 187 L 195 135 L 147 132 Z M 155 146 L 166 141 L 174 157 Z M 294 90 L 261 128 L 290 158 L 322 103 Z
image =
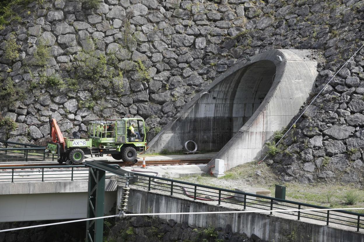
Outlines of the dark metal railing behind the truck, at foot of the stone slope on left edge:
M 46 147 L 0 140 L 0 162 L 57 161 L 58 155 L 45 151 Z

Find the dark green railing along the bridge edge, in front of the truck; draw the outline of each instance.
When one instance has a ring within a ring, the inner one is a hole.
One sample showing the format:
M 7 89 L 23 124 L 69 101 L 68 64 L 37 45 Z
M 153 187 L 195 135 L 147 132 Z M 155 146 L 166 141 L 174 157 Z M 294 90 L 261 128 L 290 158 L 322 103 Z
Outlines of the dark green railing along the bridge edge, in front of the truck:
M 112 165 L 120 168 L 119 165 Z M 113 176 L 110 173 L 107 177 Z M 72 166 L 0 166 L 0 182 L 41 181 L 46 180 L 85 180 L 88 168 L 84 164 Z

